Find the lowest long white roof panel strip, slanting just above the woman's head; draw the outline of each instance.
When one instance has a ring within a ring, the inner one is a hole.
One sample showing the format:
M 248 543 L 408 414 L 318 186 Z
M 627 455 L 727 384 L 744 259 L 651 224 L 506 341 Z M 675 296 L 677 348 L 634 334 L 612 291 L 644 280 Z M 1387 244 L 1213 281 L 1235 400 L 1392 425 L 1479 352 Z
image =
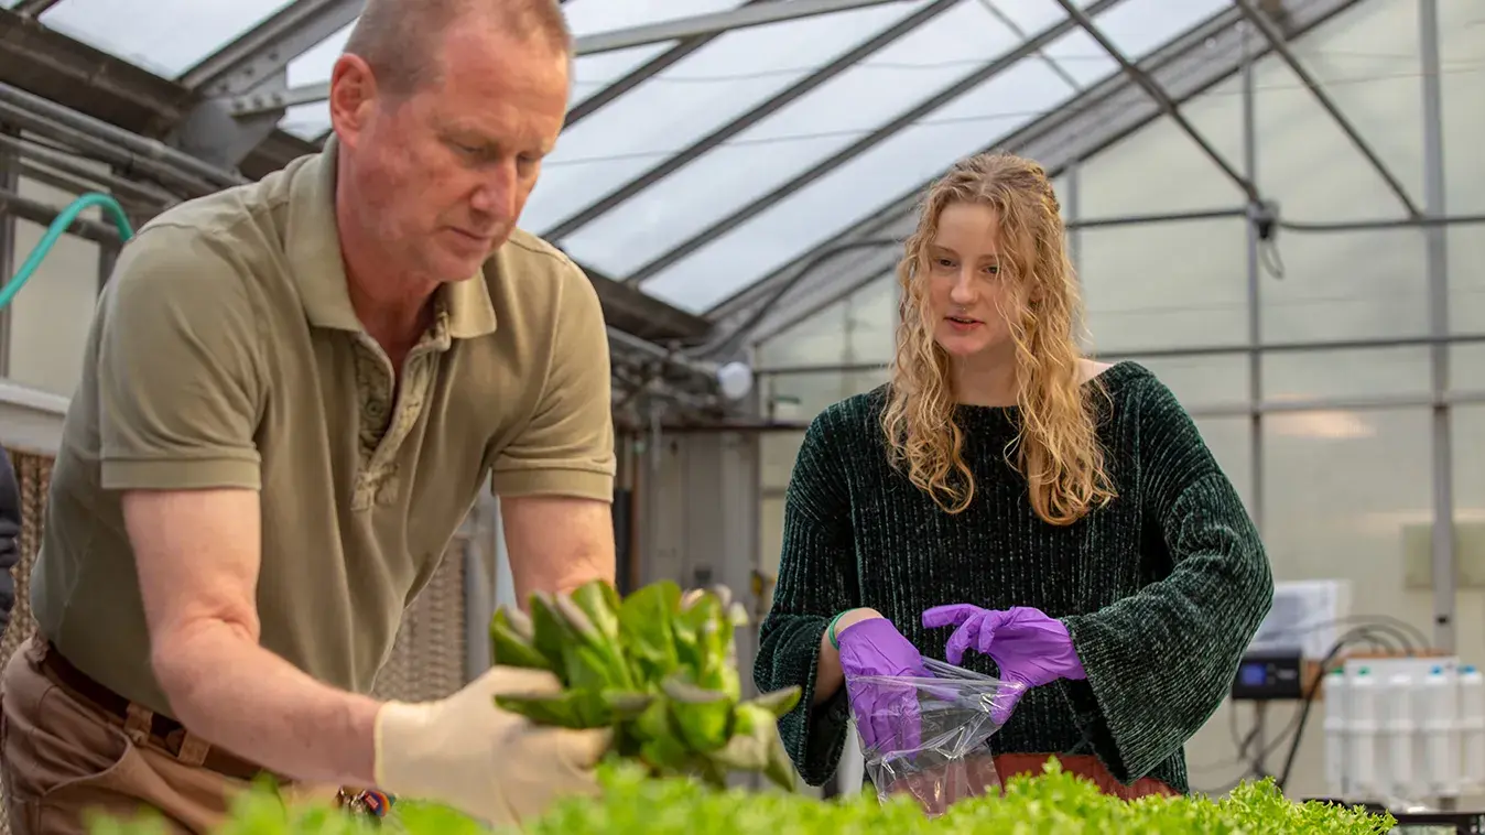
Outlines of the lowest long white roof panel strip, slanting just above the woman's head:
M 1094 24 L 1121 51 L 1129 49 L 1132 58 L 1140 58 L 1222 4 L 1225 0 L 1191 0 L 1181 15 L 1175 15 L 1163 0 L 1124 0 L 1094 18 Z M 1108 16 L 1120 9 L 1126 10 L 1121 18 Z M 1115 71 L 1117 64 L 1087 33 L 1072 30 L 1040 55 L 992 76 L 649 276 L 640 287 L 677 308 L 705 312 L 765 275 L 821 250 L 827 241 L 867 220 L 879 207 L 934 177 L 955 159 L 992 147 L 996 138 L 1054 111 L 1078 89 Z

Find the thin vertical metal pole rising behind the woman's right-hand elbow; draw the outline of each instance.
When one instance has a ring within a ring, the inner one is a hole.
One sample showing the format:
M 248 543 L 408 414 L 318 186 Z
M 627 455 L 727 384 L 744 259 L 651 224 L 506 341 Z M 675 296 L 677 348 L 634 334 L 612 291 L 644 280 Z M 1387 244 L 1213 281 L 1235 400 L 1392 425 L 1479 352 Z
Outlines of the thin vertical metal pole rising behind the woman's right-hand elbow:
M 1243 177 L 1249 183 L 1258 184 L 1258 91 L 1253 79 L 1252 25 L 1243 25 Z M 1249 204 L 1249 211 L 1259 211 L 1258 202 Z M 1258 236 L 1258 223 L 1252 217 L 1247 229 L 1247 343 L 1259 346 L 1264 343 L 1264 312 L 1262 312 L 1262 270 L 1259 263 L 1259 247 L 1264 242 Z M 1259 533 L 1264 530 L 1264 413 L 1258 404 L 1264 401 L 1264 355 L 1252 351 L 1247 355 L 1247 401 L 1253 406 L 1247 420 L 1247 455 L 1249 484 L 1253 524 Z

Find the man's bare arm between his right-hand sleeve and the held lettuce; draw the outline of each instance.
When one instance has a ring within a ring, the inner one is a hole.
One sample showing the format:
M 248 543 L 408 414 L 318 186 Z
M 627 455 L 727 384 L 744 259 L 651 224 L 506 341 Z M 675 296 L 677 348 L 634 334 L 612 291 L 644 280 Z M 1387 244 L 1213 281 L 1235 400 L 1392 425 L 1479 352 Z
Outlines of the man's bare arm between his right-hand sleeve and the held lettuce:
M 615 582 L 613 510 L 567 496 L 500 496 L 500 526 L 526 608 L 533 591 L 572 591 L 590 579 Z

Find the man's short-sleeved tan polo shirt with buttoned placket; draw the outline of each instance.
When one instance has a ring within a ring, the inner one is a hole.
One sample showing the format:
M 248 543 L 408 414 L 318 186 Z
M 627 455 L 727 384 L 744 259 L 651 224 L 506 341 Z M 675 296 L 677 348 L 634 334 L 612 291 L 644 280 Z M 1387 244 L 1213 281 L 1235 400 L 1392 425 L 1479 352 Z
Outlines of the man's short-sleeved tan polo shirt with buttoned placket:
M 166 715 L 122 490 L 261 490 L 261 643 L 356 692 L 487 478 L 502 496 L 613 498 L 587 276 L 517 232 L 444 285 L 395 388 L 346 293 L 336 153 L 150 221 L 92 322 L 31 600 L 73 664 Z

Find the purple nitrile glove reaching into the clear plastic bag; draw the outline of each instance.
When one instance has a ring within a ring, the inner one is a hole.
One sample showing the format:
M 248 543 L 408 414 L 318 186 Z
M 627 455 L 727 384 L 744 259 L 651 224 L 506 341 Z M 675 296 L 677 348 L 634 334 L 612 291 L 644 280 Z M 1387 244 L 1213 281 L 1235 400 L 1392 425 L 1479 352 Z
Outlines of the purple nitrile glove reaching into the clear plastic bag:
M 882 753 L 916 750 L 922 741 L 918 688 L 861 678 L 931 679 L 933 673 L 924 669 L 918 648 L 887 618 L 857 621 L 841 630 L 836 642 L 841 645 L 841 670 L 845 673 L 851 715 L 855 716 L 863 746 Z

